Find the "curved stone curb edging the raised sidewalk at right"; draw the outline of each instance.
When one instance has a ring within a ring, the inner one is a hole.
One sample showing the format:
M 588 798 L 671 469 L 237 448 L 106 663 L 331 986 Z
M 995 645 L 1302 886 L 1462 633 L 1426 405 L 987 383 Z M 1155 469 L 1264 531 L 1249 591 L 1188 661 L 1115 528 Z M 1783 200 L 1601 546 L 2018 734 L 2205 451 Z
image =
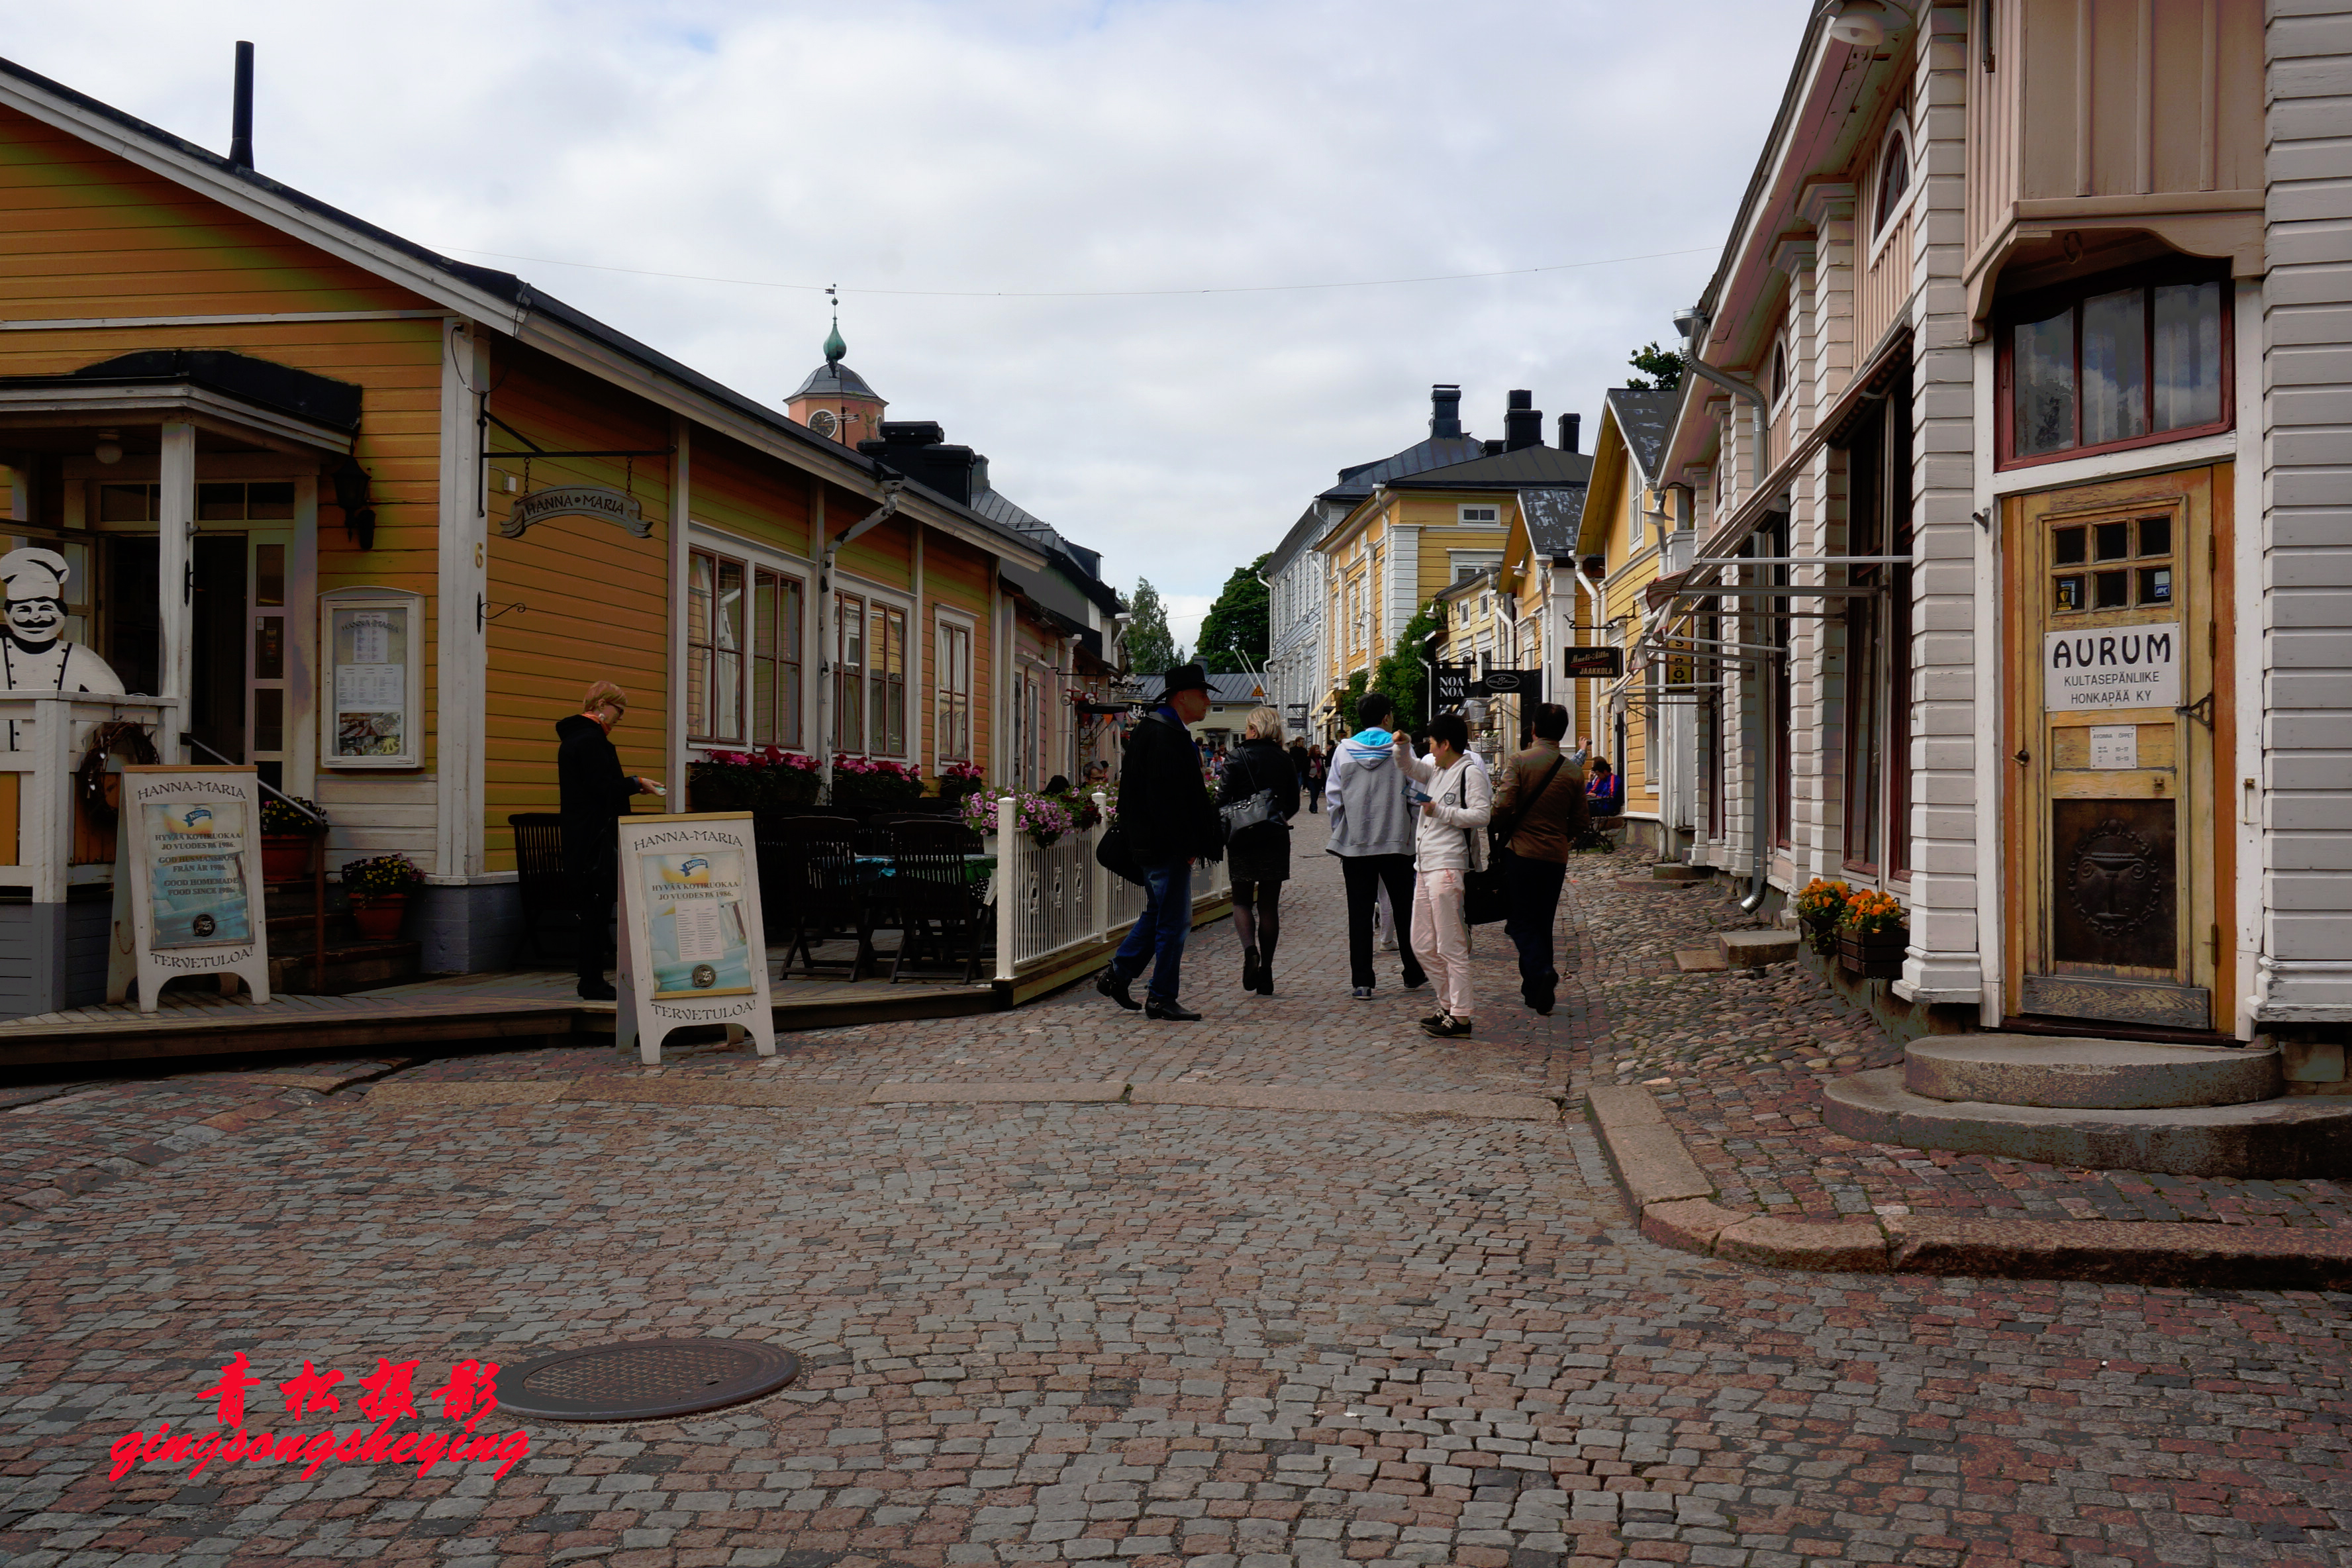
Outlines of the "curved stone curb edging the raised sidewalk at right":
M 2133 1220 L 1783 1220 L 1715 1201 L 1646 1088 L 1588 1095 L 1642 1234 L 1726 1262 L 1835 1274 L 1969 1274 L 2140 1286 L 2331 1291 L 2352 1286 L 2352 1232 Z

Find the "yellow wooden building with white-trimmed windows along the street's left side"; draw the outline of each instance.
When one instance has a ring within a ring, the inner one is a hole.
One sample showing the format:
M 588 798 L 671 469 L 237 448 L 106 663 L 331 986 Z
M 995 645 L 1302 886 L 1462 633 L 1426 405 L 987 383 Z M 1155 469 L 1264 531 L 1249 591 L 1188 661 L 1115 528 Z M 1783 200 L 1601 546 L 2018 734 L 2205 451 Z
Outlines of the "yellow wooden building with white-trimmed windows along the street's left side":
M 428 971 L 510 961 L 506 823 L 555 806 L 553 724 L 600 677 L 668 809 L 708 750 L 1075 769 L 1117 599 L 936 425 L 875 397 L 844 444 L 821 400 L 793 418 L 5 61 L 0 169 L 9 548 L 56 550 L 66 637 L 155 693 L 0 693 L 19 733 L 52 703 L 40 757 L 113 712 L 315 797 L 334 863 L 426 870 Z M 28 797 L 0 865 L 0 1016 L 103 980 L 111 865 L 68 867 L 59 811 Z

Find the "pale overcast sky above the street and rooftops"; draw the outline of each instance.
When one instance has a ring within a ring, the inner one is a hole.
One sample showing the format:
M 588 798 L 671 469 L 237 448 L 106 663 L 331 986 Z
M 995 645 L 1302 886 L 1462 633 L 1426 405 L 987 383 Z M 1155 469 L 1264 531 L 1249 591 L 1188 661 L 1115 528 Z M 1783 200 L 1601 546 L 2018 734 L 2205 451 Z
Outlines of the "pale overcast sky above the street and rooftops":
M 891 416 L 1190 642 L 1334 470 L 1425 435 L 1432 381 L 1472 435 L 1510 388 L 1590 430 L 1705 284 L 1806 9 L 0 0 L 0 52 L 226 150 L 249 38 L 263 172 L 760 400 L 837 282 Z M 1510 268 L 1559 270 L 1263 292 Z

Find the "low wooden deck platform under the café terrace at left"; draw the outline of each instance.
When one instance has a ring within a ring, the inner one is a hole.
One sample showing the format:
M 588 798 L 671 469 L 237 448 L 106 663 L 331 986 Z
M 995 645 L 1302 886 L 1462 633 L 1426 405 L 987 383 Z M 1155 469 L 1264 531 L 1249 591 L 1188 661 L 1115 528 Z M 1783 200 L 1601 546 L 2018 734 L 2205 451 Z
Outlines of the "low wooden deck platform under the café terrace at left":
M 774 971 L 771 971 L 774 973 Z M 901 1018 L 960 1018 L 1009 1006 L 988 983 L 804 980 L 776 976 L 779 1030 L 830 1030 Z M 614 1032 L 612 1001 L 581 1001 L 569 973 L 442 976 L 348 997 L 273 997 L 256 1006 L 209 990 L 167 990 L 155 1013 L 80 1006 L 0 1023 L 0 1070 L 249 1051 L 397 1051 L 534 1044 Z

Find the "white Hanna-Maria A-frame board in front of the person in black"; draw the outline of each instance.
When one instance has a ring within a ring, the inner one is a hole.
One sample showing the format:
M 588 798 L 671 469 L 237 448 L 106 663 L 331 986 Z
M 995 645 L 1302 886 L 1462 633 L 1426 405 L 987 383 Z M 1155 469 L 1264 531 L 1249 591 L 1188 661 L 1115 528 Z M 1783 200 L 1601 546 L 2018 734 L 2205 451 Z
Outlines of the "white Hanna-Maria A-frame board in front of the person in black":
M 722 1023 L 776 1056 L 750 811 L 623 816 L 616 1041 L 661 1063 L 670 1030 Z

